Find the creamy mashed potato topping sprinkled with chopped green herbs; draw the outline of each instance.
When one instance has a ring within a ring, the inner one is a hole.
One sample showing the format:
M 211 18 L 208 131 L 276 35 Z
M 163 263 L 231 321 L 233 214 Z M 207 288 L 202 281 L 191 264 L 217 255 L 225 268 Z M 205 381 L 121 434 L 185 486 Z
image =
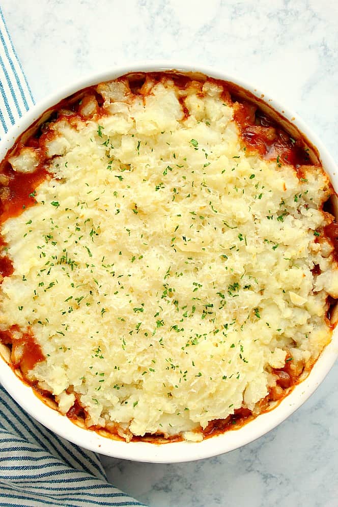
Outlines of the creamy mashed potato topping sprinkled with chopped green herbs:
M 284 387 L 276 371 L 299 375 L 330 341 L 329 179 L 248 149 L 228 95 L 170 76 L 138 93 L 101 83 L 8 159 L 50 176 L 2 224 L 0 328 L 15 364 L 34 336 L 26 378 L 87 426 L 202 439 L 259 413 Z

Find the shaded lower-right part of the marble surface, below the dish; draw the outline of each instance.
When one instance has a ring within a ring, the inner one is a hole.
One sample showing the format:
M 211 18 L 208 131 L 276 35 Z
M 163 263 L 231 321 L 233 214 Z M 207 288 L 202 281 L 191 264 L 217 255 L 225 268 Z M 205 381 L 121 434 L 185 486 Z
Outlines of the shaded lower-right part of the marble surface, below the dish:
M 338 504 L 338 364 L 278 428 L 241 449 L 182 464 L 103 458 L 110 480 L 152 506 L 334 507 Z

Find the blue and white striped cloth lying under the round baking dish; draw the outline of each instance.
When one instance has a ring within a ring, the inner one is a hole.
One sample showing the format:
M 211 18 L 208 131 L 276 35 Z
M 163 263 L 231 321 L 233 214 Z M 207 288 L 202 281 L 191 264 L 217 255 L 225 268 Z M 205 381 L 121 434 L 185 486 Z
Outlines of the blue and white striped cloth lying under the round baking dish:
M 0 7 L 0 139 L 33 104 Z M 107 483 L 96 454 L 44 428 L 0 385 L 0 507 L 12 505 L 144 504 Z

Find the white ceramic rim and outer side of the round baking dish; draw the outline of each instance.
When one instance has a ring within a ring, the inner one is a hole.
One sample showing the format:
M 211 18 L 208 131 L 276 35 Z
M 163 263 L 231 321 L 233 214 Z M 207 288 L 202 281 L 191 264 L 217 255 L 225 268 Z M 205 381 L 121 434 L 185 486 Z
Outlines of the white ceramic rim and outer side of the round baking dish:
M 37 104 L 34 108 L 27 112 L 27 114 L 20 119 L 3 138 L 0 144 L 0 160 L 5 157 L 8 149 L 13 146 L 16 138 L 33 122 L 35 122 L 46 109 L 57 104 L 60 100 L 72 93 L 82 88 L 94 85 L 100 81 L 115 79 L 128 72 L 153 72 L 170 69 L 185 72 L 202 72 L 203 74 L 217 79 L 234 82 L 240 87 L 251 92 L 259 99 L 263 97 L 263 94 L 256 88 L 253 88 L 249 83 L 244 82 L 235 76 L 228 75 L 226 72 L 187 64 L 180 65 L 177 62 L 131 64 L 128 67 L 112 69 L 105 73 L 96 74 L 87 79 L 83 79 Z M 337 167 L 316 135 L 303 123 L 300 118 L 297 117 L 297 115 L 279 104 L 275 99 L 272 99 L 264 94 L 264 101 L 277 111 L 277 113 L 283 115 L 284 118 L 289 120 L 291 124 L 295 125 L 318 149 L 324 170 L 329 175 L 333 187 L 337 192 Z M 227 453 L 241 447 L 242 445 L 252 442 L 275 428 L 312 395 L 329 372 L 337 357 L 338 326 L 333 332 L 331 343 L 325 348 L 309 376 L 302 383 L 298 384 L 290 395 L 281 401 L 276 408 L 258 416 L 256 419 L 242 426 L 239 430 L 228 431 L 224 434 L 216 435 L 197 443 L 186 441 L 168 444 L 154 444 L 148 442 L 126 443 L 124 441 L 105 438 L 94 431 L 85 430 L 74 425 L 66 416 L 62 416 L 59 412 L 45 405 L 39 398 L 37 398 L 37 396 L 35 396 L 31 387 L 25 385 L 2 359 L 0 359 L 0 361 L 2 361 L 0 368 L 0 381 L 11 396 L 29 414 L 53 432 L 82 447 L 107 456 L 114 456 L 116 458 L 154 463 L 176 463 L 199 460 Z

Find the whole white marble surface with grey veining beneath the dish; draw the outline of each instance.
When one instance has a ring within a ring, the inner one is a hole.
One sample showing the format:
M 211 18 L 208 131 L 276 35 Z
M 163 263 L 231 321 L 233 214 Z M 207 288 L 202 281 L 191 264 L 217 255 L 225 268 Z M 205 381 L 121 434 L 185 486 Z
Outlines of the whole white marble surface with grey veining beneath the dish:
M 179 59 L 236 73 L 296 110 L 338 158 L 336 0 L 2 0 L 36 100 L 135 60 Z M 338 505 L 338 364 L 260 440 L 218 458 L 152 465 L 103 458 L 151 506 Z

